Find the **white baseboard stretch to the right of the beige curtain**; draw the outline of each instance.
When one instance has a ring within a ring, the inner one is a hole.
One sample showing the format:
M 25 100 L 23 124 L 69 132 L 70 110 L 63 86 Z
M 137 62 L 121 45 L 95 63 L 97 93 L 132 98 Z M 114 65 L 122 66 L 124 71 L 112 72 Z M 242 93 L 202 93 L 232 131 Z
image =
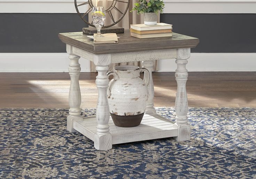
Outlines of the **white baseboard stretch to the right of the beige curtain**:
M 256 53 L 191 53 L 189 72 L 250 72 L 256 71 Z M 159 72 L 175 72 L 173 60 L 160 60 Z

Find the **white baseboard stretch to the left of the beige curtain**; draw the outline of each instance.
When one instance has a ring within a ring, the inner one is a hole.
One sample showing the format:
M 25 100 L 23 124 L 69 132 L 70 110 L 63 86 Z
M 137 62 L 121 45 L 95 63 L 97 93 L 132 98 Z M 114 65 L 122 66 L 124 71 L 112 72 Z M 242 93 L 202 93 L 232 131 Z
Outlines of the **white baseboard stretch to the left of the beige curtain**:
M 81 58 L 81 72 L 90 71 L 90 62 Z M 0 72 L 69 72 L 67 53 L 0 53 Z

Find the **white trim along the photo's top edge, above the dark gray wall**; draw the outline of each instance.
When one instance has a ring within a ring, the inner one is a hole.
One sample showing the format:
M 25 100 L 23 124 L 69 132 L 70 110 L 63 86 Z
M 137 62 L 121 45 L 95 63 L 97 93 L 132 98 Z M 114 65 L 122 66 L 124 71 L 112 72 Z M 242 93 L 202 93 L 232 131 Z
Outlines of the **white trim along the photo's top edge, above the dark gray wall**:
M 86 0 L 77 0 L 78 4 Z M 163 0 L 163 13 L 256 13 L 256 0 Z M 81 8 L 81 7 L 80 7 Z M 85 5 L 86 11 L 88 8 Z M 84 11 L 84 12 L 85 12 Z M 0 0 L 0 13 L 77 13 L 73 0 Z

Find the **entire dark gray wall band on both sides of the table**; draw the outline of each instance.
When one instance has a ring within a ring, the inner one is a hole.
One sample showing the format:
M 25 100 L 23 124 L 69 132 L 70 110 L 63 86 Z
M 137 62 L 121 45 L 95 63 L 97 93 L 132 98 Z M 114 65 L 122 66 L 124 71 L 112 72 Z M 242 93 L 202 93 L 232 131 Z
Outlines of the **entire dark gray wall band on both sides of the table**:
M 192 52 L 256 52 L 256 14 L 162 14 L 176 33 L 200 43 Z M 0 14 L 0 52 L 65 52 L 58 33 L 87 24 L 77 14 Z

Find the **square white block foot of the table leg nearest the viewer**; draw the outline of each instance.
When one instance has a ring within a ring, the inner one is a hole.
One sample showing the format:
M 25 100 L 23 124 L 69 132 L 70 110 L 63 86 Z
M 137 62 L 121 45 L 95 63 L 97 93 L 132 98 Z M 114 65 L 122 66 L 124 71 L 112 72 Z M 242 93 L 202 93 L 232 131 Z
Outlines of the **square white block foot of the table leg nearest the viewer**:
M 112 136 L 111 134 L 106 135 L 94 135 L 94 147 L 97 150 L 109 150 L 112 148 Z

